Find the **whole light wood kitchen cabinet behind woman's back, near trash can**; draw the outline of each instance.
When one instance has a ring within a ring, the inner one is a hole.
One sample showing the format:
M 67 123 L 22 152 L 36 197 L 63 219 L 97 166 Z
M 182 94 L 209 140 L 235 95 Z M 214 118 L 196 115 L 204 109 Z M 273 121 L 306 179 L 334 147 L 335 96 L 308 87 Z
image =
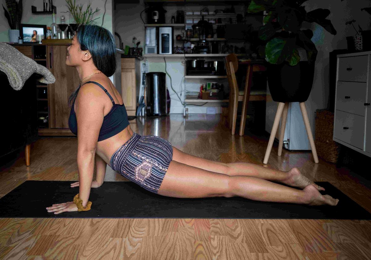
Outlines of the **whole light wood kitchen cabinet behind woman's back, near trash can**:
M 121 59 L 121 95 L 128 116 L 135 116 L 138 104 L 140 84 L 139 60 L 134 58 Z

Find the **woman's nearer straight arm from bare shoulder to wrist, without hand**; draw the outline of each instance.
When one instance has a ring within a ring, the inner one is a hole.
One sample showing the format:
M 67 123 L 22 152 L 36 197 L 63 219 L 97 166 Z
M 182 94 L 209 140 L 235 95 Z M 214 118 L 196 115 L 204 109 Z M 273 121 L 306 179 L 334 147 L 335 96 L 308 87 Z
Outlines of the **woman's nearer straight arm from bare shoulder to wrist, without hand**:
M 104 101 L 100 98 L 102 97 L 99 93 L 100 89 L 97 88 L 93 83 L 85 84 L 80 88 L 76 97 L 79 198 L 82 199 L 83 207 L 86 207 L 89 200 L 94 173 L 95 150 L 104 117 Z

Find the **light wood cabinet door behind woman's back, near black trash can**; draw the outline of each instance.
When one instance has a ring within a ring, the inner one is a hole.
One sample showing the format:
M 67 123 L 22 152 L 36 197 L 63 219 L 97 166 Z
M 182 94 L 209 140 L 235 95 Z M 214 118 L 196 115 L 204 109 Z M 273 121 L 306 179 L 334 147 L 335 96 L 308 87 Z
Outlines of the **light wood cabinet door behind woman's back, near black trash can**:
M 135 103 L 135 69 L 121 69 L 121 95 L 126 110 L 136 110 Z

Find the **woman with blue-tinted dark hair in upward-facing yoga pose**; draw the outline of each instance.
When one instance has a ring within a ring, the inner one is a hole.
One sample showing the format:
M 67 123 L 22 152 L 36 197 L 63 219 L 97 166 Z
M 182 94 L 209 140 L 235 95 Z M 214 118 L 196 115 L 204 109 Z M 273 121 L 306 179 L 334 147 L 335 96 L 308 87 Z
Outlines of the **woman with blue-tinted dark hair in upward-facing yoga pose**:
M 75 203 L 53 204 L 46 208 L 48 212 L 86 210 L 90 189 L 103 183 L 106 164 L 162 196 L 241 196 L 260 201 L 333 206 L 338 203 L 329 195 L 322 196 L 318 190 L 324 189 L 297 168 L 283 172 L 251 163 L 210 161 L 183 153 L 160 137 L 134 133 L 122 98 L 108 79 L 116 69 L 115 48 L 112 34 L 95 25 L 80 26 L 68 47 L 66 64 L 75 67 L 81 79 L 69 100 L 70 103 L 74 100 L 69 126 L 78 136 L 79 172 L 79 181 L 71 187 L 79 186 L 79 194 L 74 198 Z M 94 163 L 96 180 L 93 180 Z

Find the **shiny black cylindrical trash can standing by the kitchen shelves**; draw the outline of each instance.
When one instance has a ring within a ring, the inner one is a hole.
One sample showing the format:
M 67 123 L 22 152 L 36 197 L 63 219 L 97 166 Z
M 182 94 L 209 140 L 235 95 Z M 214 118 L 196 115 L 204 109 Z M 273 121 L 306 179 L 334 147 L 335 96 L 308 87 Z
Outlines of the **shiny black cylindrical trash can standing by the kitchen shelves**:
M 167 115 L 166 74 L 149 72 L 147 77 L 147 116 Z

